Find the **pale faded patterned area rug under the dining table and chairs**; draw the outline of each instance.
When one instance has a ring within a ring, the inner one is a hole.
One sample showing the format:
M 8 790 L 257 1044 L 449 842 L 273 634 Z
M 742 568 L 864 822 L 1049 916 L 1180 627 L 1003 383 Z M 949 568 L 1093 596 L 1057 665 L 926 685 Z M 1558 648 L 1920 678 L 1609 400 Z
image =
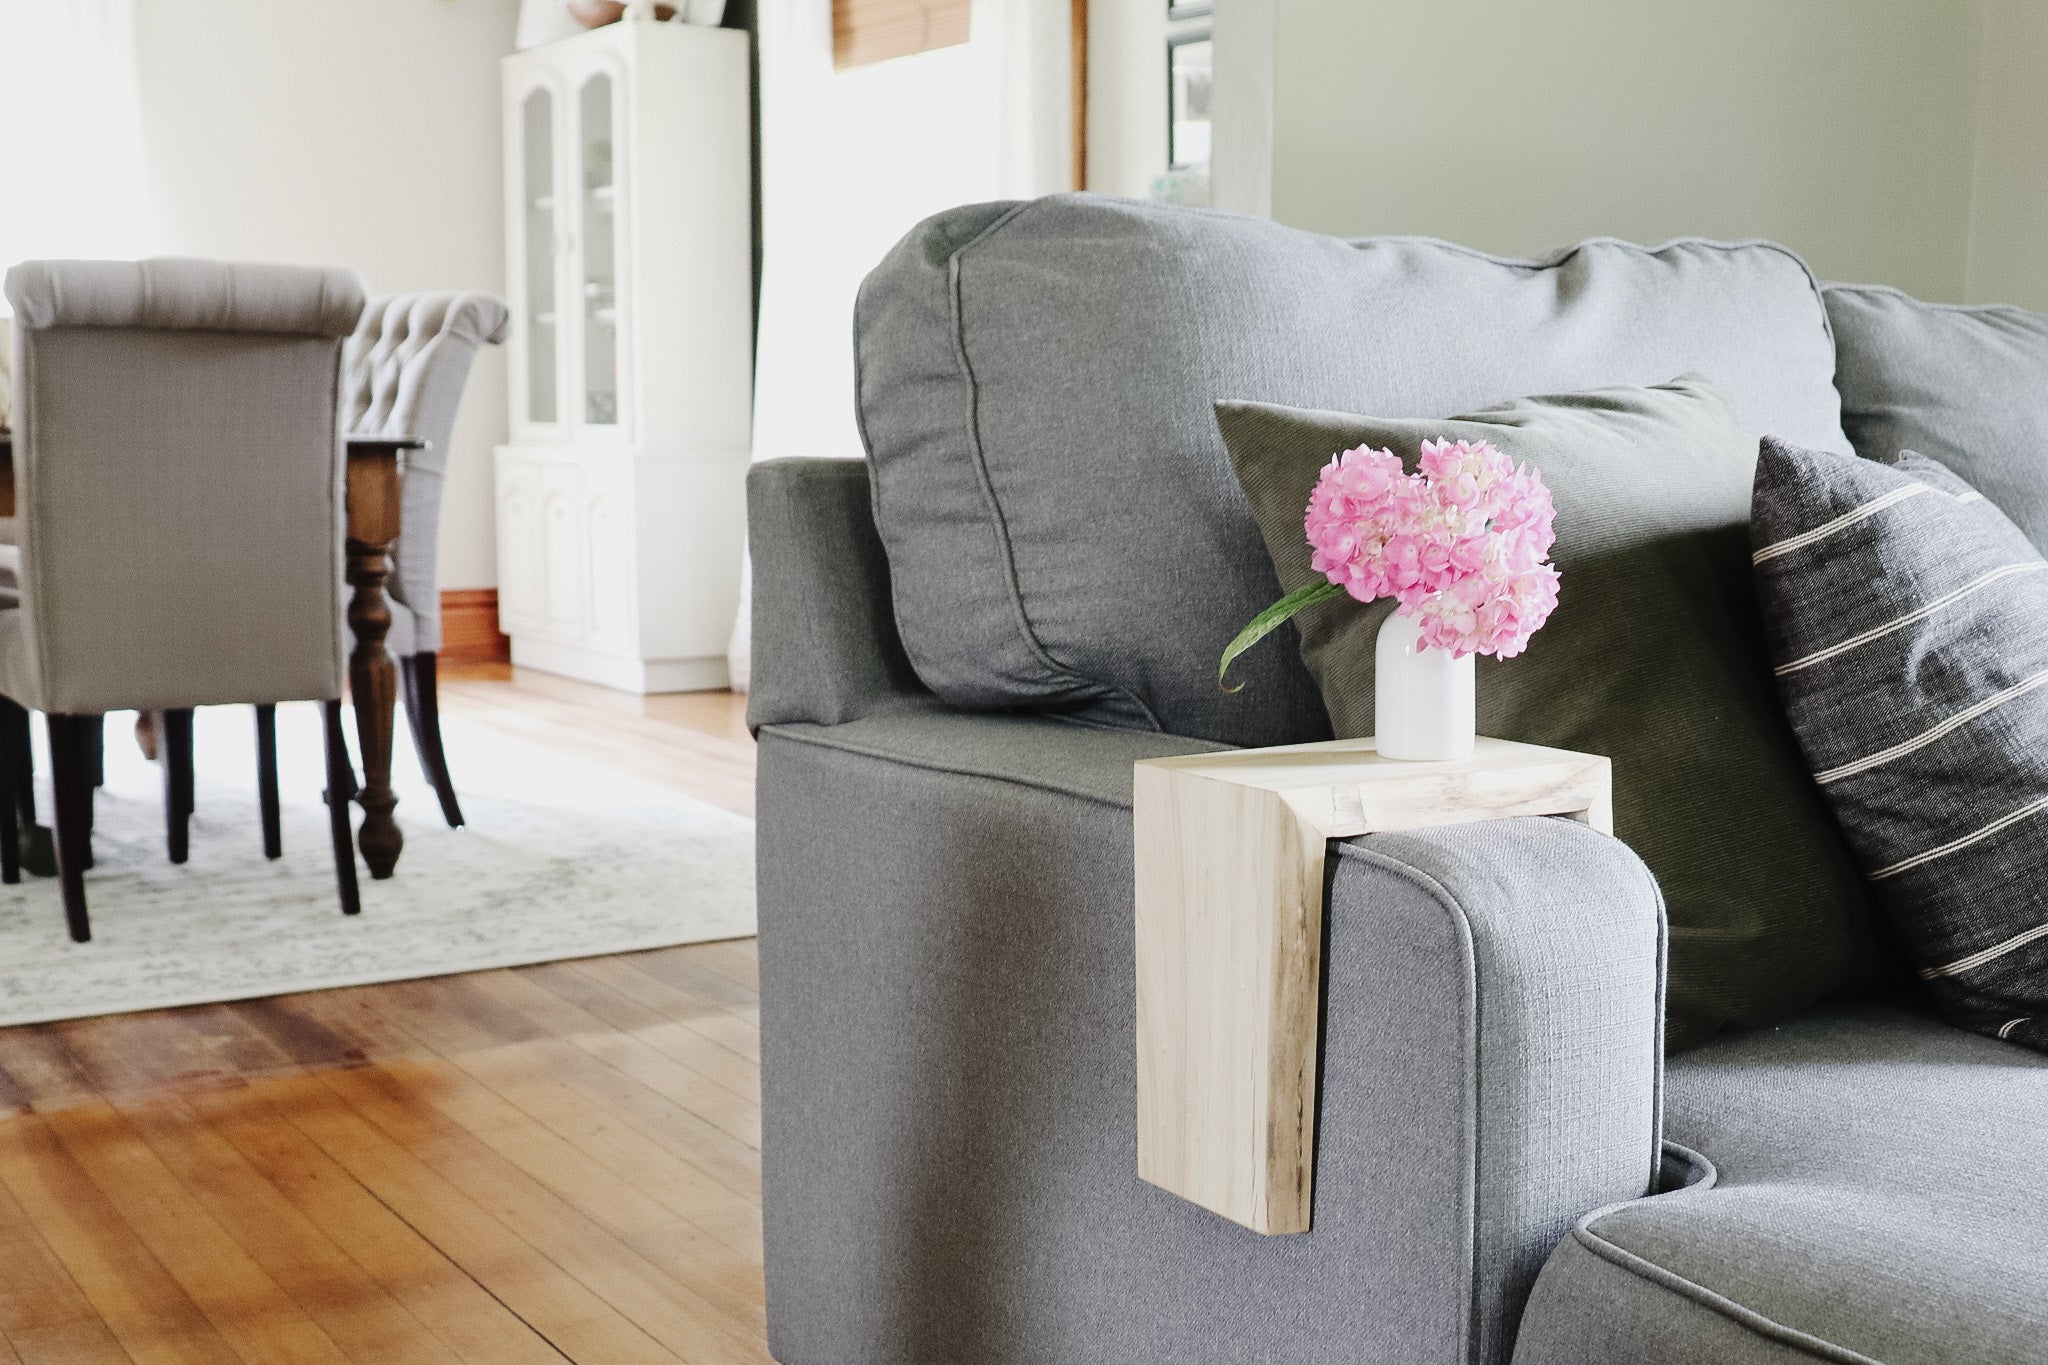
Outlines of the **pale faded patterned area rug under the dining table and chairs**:
M 262 855 L 250 708 L 199 712 L 190 862 L 172 866 L 162 774 L 135 751 L 131 722 L 106 718 L 92 941 L 66 935 L 53 878 L 0 886 L 0 1025 L 754 933 L 752 821 L 461 716 L 442 718 L 442 737 L 469 825 L 442 823 L 399 716 L 406 853 L 391 880 L 358 874 L 360 917 L 336 900 L 311 704 L 279 706 L 276 862 Z M 47 821 L 41 753 L 37 776 Z

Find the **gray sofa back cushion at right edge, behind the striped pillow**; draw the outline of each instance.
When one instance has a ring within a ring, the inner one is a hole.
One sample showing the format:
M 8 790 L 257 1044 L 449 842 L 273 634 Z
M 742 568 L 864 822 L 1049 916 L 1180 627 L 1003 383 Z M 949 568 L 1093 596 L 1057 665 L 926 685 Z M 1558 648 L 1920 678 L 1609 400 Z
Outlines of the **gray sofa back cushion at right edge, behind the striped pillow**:
M 1878 465 L 1903 450 L 1939 460 L 2048 553 L 2048 315 L 1921 303 L 1876 284 L 1829 284 L 1825 297 L 1855 452 Z

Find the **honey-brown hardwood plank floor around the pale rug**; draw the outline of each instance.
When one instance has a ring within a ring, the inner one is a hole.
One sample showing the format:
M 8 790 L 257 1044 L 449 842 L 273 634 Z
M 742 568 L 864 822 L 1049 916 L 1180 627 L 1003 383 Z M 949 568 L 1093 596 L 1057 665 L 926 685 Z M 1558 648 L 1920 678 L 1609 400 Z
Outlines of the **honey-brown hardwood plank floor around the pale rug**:
M 442 708 L 754 806 L 727 694 L 481 665 Z M 768 1361 L 754 962 L 0 1029 L 0 1365 Z

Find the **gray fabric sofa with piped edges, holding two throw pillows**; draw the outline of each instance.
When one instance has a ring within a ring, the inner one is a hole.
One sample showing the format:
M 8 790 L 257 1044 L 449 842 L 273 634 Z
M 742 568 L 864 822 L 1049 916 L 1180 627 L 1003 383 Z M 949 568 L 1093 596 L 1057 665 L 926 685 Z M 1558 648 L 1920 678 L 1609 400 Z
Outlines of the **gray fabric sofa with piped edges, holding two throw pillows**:
M 1130 763 L 1329 733 L 1286 645 L 1214 688 L 1274 583 L 1208 403 L 1700 370 L 1849 450 L 1851 389 L 1911 426 L 1884 329 L 1944 346 L 1890 303 L 1765 244 L 1499 262 L 1094 196 L 913 231 L 856 317 L 870 458 L 750 483 L 776 1359 L 2048 1359 L 2048 1058 L 1933 1019 L 1874 927 L 1702 1027 L 1741 968 L 1565 821 L 1331 847 L 1311 1232 L 1137 1179 Z

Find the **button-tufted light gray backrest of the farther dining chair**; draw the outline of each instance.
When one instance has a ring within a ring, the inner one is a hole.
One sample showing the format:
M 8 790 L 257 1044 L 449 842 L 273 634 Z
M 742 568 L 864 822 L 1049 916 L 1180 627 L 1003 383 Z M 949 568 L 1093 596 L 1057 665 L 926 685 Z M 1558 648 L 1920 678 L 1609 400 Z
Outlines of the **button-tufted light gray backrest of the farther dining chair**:
M 406 460 L 391 596 L 412 608 L 414 649 L 440 649 L 440 493 L 463 383 L 477 348 L 506 336 L 510 311 L 496 295 L 440 291 L 383 295 L 342 352 L 342 393 L 354 436 L 416 436 Z

